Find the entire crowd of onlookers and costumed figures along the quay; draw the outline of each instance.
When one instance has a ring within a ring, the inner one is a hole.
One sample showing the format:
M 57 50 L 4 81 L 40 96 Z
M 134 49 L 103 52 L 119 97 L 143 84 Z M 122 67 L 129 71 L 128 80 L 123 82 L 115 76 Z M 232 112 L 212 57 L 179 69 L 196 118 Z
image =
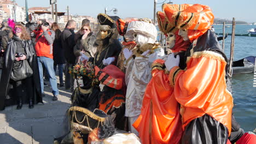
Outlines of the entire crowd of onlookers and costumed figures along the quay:
M 98 14 L 98 28 L 53 19 L 2 23 L 0 110 L 72 92 L 65 135 L 54 143 L 255 143 L 232 115 L 228 59 L 201 4 L 164 4 L 149 19 Z M 122 37 L 122 43 L 118 40 Z M 59 83 L 55 72 L 59 71 Z M 63 80 L 63 73 L 65 80 Z

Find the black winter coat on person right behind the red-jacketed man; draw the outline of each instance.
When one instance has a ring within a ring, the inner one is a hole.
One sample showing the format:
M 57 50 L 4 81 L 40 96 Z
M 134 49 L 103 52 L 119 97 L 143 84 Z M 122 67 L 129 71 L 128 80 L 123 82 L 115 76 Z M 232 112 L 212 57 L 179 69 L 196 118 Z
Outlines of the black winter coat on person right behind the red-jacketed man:
M 55 31 L 55 39 L 53 43 L 53 56 L 55 64 L 65 64 L 64 49 L 61 44 L 61 31 L 57 29 Z

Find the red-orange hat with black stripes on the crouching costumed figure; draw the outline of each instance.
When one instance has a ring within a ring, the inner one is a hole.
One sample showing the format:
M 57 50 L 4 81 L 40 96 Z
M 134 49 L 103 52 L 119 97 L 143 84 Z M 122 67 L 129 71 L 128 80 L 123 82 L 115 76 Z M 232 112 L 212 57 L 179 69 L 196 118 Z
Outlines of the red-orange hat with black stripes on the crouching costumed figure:
M 114 88 L 121 89 L 125 87 L 125 74 L 115 65 L 107 65 L 102 70 L 95 66 L 96 78 L 104 85 Z

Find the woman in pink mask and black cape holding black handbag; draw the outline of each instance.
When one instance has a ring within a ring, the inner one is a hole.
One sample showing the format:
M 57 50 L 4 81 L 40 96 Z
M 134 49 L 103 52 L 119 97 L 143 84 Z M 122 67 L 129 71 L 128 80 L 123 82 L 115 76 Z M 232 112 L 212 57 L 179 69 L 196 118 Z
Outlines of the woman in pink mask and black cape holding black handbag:
M 7 99 L 10 83 L 13 84 L 14 91 Z M 4 54 L 3 75 L 0 82 L 0 110 L 4 110 L 5 106 L 16 104 L 16 101 L 18 110 L 23 103 L 28 103 L 30 109 L 33 108 L 34 103 L 43 103 L 36 52 L 30 34 L 21 24 L 16 24 L 14 35 L 11 35 Z

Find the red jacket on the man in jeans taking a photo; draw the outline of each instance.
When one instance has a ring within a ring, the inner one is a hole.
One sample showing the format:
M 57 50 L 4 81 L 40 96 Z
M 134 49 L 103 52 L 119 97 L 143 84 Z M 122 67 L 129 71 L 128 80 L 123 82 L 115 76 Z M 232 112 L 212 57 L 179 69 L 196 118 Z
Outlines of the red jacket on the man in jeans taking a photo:
M 39 57 L 49 57 L 53 59 L 53 41 L 55 38 L 54 31 L 48 29 L 47 31 L 40 30 L 36 37 L 36 53 Z

